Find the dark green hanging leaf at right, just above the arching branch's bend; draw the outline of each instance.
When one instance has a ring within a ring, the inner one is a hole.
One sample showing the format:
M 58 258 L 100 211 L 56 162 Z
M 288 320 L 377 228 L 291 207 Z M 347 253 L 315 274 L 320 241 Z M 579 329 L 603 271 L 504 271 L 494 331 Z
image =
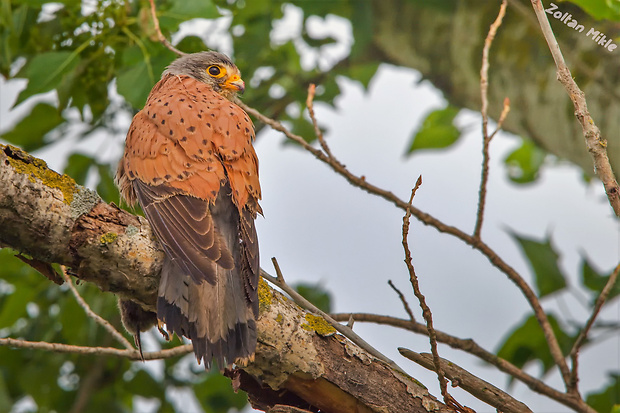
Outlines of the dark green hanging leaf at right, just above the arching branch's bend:
M 551 245 L 549 238 L 544 241 L 510 235 L 519 242 L 521 250 L 534 272 L 534 281 L 538 296 L 544 297 L 566 287 L 566 279 L 558 266 L 559 255 Z

